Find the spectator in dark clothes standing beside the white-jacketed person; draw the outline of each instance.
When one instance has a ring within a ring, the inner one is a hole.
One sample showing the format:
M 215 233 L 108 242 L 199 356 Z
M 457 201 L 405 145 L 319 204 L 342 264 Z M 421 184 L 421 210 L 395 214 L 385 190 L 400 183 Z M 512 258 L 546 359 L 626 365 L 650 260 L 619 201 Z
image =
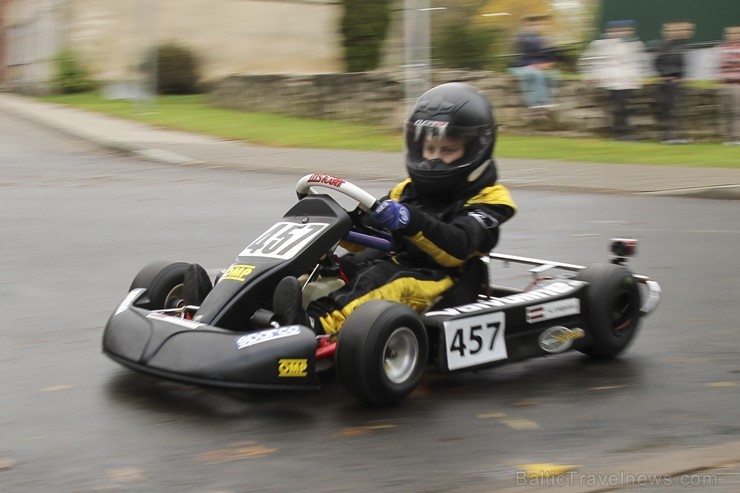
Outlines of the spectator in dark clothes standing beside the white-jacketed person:
M 664 144 L 687 144 L 687 139 L 678 138 L 676 106 L 681 97 L 681 82 L 686 73 L 686 39 L 693 25 L 685 22 L 663 24 L 663 39 L 656 47 L 655 71 L 660 77 L 658 84 L 658 123 Z

